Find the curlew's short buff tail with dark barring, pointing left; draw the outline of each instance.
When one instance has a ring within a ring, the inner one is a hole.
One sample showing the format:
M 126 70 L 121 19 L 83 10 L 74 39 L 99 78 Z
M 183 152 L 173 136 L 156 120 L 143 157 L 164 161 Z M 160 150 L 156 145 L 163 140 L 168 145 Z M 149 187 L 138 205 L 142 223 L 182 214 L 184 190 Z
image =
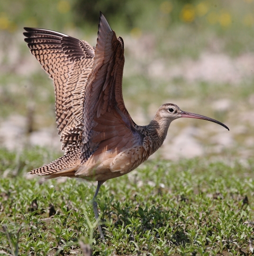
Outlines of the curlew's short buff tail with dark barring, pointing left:
M 76 166 L 80 163 L 80 152 L 80 149 L 68 152 L 57 160 L 30 171 L 29 174 L 50 175 L 49 179 L 58 176 L 75 176 Z

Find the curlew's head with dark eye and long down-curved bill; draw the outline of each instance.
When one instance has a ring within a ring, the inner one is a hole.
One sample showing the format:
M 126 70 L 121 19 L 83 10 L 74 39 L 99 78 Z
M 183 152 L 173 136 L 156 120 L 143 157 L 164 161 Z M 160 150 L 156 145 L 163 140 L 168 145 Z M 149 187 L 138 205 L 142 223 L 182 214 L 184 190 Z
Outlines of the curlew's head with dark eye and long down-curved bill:
M 180 110 L 180 108 L 172 103 L 166 103 L 160 106 L 160 108 L 158 109 L 157 113 L 156 113 L 157 118 L 161 119 L 167 119 L 170 122 L 181 118 L 181 117 L 186 117 L 186 118 L 197 118 L 197 119 L 204 119 L 207 121 L 211 121 L 211 122 L 215 122 L 218 123 L 219 125 L 225 127 L 226 129 L 229 130 L 229 128 L 227 126 L 224 125 L 224 123 L 219 122 L 215 119 L 212 119 L 210 117 L 205 117 L 205 116 L 201 116 L 200 114 L 194 114 L 194 113 L 190 113 L 190 112 L 186 112 L 183 110 Z

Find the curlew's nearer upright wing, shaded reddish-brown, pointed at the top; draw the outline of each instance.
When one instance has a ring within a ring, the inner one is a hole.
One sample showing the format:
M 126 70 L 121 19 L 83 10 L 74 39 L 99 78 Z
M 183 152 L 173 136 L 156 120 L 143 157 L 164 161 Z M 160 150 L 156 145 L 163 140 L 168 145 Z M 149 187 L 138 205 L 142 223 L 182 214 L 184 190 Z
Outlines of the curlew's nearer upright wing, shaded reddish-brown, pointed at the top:
M 106 131 L 107 128 L 105 126 L 97 126 L 99 119 L 103 119 L 105 113 L 110 113 L 114 118 L 112 110 L 115 109 L 120 115 L 120 119 L 124 121 L 125 128 L 129 131 L 133 128 L 133 121 L 125 108 L 122 96 L 123 66 L 123 40 L 122 38 L 116 38 L 115 32 L 110 28 L 101 13 L 94 66 L 85 88 L 83 144 L 80 155 L 82 163 L 88 160 L 98 148 L 99 143 L 106 138 L 103 139 L 105 133 L 107 136 L 117 136 L 117 130 L 111 131 L 110 134 Z M 99 130 L 99 127 L 103 128 Z M 98 135 L 100 133 L 101 135 Z M 115 139 L 117 138 L 115 137 Z

